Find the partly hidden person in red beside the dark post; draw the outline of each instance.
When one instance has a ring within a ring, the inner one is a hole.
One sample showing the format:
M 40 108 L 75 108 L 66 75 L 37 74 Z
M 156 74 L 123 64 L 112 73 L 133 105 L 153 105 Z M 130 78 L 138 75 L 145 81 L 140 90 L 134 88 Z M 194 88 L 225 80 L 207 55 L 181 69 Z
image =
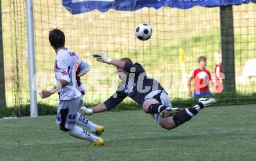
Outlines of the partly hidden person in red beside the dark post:
M 214 53 L 216 65 L 214 67 L 214 78 L 215 78 L 215 92 L 220 93 L 223 90 L 222 84 L 222 55 L 221 51 Z

